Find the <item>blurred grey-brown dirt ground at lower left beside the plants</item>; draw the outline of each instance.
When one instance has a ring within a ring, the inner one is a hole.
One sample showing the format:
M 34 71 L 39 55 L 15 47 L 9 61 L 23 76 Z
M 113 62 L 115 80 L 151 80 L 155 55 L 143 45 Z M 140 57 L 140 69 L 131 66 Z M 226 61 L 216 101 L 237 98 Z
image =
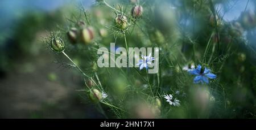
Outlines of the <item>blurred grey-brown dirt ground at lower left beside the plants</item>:
M 16 63 L 0 79 L 0 118 L 102 118 L 76 89 L 80 77 L 59 68 L 51 54 Z M 55 73 L 55 81 L 47 75 Z

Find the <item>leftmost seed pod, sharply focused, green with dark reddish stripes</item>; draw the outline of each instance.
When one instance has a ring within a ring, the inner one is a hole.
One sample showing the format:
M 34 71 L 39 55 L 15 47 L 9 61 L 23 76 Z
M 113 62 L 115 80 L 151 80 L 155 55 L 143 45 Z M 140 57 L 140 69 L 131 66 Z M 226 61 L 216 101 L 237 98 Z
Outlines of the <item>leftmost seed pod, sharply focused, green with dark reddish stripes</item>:
M 51 40 L 51 49 L 56 51 L 57 53 L 61 53 L 65 50 L 65 44 L 60 37 L 53 37 Z

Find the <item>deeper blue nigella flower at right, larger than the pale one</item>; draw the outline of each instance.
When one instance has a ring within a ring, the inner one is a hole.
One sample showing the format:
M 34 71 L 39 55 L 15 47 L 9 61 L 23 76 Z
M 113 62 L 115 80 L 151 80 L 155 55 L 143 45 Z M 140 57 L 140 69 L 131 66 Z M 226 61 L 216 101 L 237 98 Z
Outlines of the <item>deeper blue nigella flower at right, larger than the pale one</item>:
M 207 83 L 209 84 L 209 79 L 215 79 L 217 76 L 214 75 L 213 73 L 210 73 L 210 70 L 205 67 L 202 68 L 200 65 L 197 66 L 197 68 L 194 68 L 193 70 L 188 71 L 192 75 L 196 75 L 194 78 L 194 83 Z

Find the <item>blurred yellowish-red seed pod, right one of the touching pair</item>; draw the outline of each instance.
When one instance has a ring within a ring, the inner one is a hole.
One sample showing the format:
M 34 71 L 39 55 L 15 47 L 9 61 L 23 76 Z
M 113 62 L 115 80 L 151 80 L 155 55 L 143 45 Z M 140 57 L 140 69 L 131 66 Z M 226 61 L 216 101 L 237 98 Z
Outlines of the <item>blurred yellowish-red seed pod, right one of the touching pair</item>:
M 81 31 L 81 40 L 84 44 L 89 44 L 92 42 L 94 37 L 94 31 L 92 27 L 84 28 Z

